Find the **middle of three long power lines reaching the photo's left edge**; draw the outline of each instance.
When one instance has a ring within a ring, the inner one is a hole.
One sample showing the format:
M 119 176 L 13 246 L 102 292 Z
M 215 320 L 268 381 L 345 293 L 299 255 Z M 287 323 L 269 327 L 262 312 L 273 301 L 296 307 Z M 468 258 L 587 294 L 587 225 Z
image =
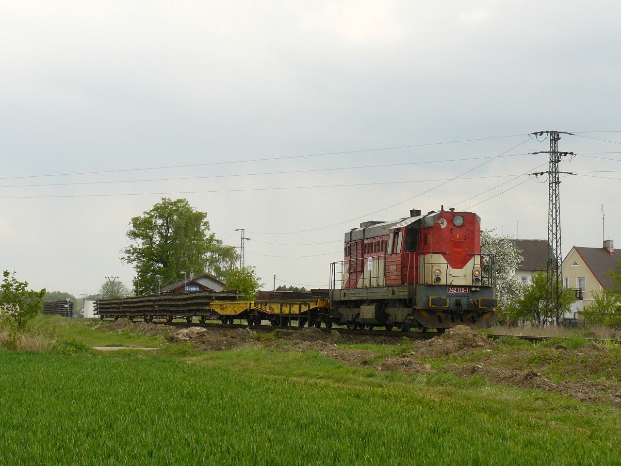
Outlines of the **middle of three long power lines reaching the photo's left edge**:
M 519 155 L 530 155 L 530 154 L 515 153 L 511 155 L 504 155 L 503 157 L 517 157 Z M 227 174 L 227 175 L 178 176 L 175 178 L 149 178 L 147 180 L 73 181 L 71 183 L 39 183 L 39 184 L 34 184 L 34 185 L 1 185 L 0 188 L 35 188 L 35 187 L 42 187 L 42 186 L 47 187 L 47 186 L 112 185 L 116 183 L 144 183 L 147 181 L 204 180 L 207 178 L 236 178 L 237 176 L 291 175 L 292 173 L 311 173 L 314 171 L 359 170 L 361 168 L 404 167 L 406 165 L 425 165 L 428 163 L 462 162 L 465 160 L 482 160 L 484 158 L 494 158 L 494 157 L 487 156 L 487 157 L 447 158 L 444 160 L 424 160 L 422 162 L 384 163 L 381 165 L 358 165 L 356 167 L 308 168 L 306 170 L 263 171 L 261 173 L 232 173 L 232 174 Z

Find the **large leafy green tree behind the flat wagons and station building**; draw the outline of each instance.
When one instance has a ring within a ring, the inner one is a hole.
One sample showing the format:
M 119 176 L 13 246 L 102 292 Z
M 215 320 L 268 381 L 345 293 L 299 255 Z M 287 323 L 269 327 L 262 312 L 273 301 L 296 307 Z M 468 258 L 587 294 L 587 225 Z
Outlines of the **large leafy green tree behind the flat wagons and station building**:
M 207 213 L 196 211 L 187 199 L 162 198 L 141 216 L 132 218 L 124 250 L 124 262 L 134 265 L 134 288 L 140 294 L 155 293 L 181 278 L 181 272 L 210 273 L 224 280 L 235 267 L 237 250 L 209 232 Z

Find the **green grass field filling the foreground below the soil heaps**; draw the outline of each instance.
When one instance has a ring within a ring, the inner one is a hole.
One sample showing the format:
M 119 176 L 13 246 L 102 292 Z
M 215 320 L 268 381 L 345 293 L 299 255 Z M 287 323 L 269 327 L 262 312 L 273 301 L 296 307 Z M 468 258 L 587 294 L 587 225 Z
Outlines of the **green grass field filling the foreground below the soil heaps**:
M 0 350 L 0 464 L 618 464 L 621 412 L 263 347 Z

